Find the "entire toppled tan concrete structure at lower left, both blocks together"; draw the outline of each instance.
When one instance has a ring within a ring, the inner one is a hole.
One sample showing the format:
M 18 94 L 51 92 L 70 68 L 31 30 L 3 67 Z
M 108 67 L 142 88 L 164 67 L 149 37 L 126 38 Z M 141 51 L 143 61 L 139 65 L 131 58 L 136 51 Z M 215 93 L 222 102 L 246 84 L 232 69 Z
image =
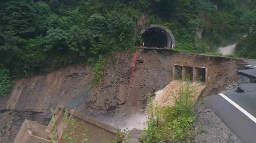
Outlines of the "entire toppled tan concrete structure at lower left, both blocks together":
M 112 143 L 117 132 L 77 110 L 58 107 L 48 127 L 25 120 L 14 143 Z

